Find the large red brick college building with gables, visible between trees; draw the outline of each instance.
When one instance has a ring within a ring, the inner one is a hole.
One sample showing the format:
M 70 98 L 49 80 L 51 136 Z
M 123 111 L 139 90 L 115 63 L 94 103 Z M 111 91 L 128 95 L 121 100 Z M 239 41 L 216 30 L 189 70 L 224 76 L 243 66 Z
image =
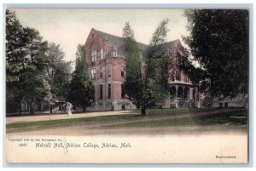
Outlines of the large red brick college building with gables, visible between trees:
M 138 43 L 143 60 L 143 51 L 148 45 Z M 199 98 L 196 87 L 183 71 L 177 69 L 180 58 L 186 58 L 184 48 L 179 40 L 164 43 L 166 53 L 170 54 L 170 60 L 174 62 L 170 69 L 170 98 L 166 100 L 166 108 L 183 107 L 186 101 L 194 100 L 194 105 Z M 85 50 L 90 76 L 95 85 L 96 104 L 89 111 L 109 111 L 131 109 L 135 106 L 125 98 L 123 82 L 125 78 L 125 42 L 122 37 L 91 29 L 85 42 Z M 172 54 L 172 55 L 171 55 Z M 178 57 L 177 57 L 178 56 Z

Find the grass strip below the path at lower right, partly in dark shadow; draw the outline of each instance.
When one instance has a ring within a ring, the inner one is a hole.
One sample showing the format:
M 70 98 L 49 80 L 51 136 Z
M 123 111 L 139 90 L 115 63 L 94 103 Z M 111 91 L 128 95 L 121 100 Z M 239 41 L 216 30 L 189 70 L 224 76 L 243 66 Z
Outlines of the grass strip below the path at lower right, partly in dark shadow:
M 201 117 L 185 117 L 177 119 L 153 120 L 137 123 L 122 123 L 106 126 L 108 128 L 129 127 L 168 127 L 168 126 L 193 126 L 193 125 L 247 125 L 247 111 L 230 111 L 225 114 L 214 114 Z

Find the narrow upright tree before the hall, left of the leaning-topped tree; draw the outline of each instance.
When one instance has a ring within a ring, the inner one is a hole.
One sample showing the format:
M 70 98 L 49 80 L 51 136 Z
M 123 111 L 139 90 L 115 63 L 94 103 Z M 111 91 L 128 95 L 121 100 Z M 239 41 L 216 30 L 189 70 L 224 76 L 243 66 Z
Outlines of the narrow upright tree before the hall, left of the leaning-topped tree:
M 140 59 L 140 52 L 137 42 L 134 39 L 133 31 L 129 22 L 125 23 L 125 28 L 123 29 L 123 37 L 125 39 L 125 56 L 126 56 L 126 66 L 125 66 L 125 82 L 124 88 L 125 93 L 129 96 L 129 99 L 133 104 L 137 106 L 141 105 L 142 97 L 142 61 Z M 140 90 L 140 91 L 138 91 Z

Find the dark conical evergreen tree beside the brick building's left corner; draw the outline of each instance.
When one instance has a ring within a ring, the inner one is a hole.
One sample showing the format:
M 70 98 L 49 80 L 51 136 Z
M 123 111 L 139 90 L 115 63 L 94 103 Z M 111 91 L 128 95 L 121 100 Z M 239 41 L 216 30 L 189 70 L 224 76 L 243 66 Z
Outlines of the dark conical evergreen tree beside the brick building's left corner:
M 76 67 L 73 71 L 67 100 L 73 105 L 83 108 L 85 112 L 86 108 L 95 101 L 95 88 L 90 80 L 84 45 L 78 45 L 76 56 Z

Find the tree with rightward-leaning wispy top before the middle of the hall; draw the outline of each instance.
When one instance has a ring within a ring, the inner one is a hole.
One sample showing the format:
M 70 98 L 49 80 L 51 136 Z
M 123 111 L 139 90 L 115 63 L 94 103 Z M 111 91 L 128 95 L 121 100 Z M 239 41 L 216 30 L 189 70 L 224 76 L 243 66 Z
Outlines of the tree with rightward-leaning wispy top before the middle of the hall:
M 165 47 L 169 20 L 160 21 L 146 51 L 146 66 L 143 68 L 142 115 L 150 105 L 166 100 L 168 95 L 167 71 L 170 64 Z

